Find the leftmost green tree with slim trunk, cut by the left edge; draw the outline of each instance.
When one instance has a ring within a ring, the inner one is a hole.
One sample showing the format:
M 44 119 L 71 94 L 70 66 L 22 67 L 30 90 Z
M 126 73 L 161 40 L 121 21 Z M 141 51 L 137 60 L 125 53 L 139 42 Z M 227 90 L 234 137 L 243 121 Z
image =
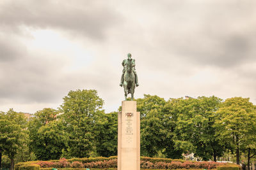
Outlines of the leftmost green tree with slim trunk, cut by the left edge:
M 26 118 L 23 114 L 10 109 L 0 113 L 0 147 L 11 160 L 10 169 L 14 169 L 14 157 L 26 145 Z

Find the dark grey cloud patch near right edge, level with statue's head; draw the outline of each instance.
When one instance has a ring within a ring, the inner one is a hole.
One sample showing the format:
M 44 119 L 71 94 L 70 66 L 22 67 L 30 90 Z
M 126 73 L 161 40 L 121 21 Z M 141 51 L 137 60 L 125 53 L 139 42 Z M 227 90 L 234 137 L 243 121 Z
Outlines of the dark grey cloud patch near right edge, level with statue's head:
M 207 42 L 208 41 L 208 42 Z M 234 67 L 248 59 L 253 48 L 250 36 L 230 35 L 225 38 L 200 39 L 179 49 L 180 54 L 198 64 L 218 67 Z

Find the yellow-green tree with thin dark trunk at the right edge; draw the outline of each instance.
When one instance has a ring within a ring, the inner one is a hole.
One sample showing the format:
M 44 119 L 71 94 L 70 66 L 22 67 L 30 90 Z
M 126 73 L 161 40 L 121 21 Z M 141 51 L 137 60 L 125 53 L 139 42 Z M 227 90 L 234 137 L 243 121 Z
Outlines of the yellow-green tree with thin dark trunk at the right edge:
M 231 144 L 239 164 L 241 150 L 255 148 L 255 106 L 249 98 L 232 97 L 221 104 L 217 113 L 216 134 Z

